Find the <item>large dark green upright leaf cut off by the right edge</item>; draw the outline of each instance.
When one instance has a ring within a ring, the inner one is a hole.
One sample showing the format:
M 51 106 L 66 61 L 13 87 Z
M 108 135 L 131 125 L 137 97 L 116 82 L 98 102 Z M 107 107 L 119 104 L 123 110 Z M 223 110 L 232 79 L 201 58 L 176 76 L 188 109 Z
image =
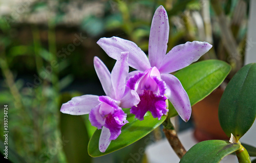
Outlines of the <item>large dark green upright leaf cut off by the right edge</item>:
M 219 120 L 224 132 L 239 140 L 256 117 L 256 64 L 240 69 L 228 83 L 219 105 Z

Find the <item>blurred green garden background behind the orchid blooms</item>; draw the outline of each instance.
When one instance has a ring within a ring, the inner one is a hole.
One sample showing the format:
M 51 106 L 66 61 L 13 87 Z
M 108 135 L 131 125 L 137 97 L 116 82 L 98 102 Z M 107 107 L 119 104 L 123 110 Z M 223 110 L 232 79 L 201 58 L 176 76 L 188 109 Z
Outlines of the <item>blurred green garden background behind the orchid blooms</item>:
M 93 57 L 98 56 L 110 70 L 115 61 L 96 44 L 101 37 L 131 40 L 147 53 L 152 16 L 159 5 L 169 17 L 167 50 L 186 41 L 207 41 L 214 48 L 202 59 L 224 60 L 233 74 L 241 68 L 248 1 L 0 2 L 0 115 L 4 117 L 4 104 L 8 104 L 9 160 L 100 162 L 102 158 L 87 154 L 86 144 L 95 130 L 88 117 L 63 115 L 60 106 L 74 96 L 103 95 Z M 1 133 L 3 121 L 0 118 Z M 77 142 L 72 143 L 74 139 Z M 1 149 L 3 141 L 1 135 Z M 145 145 L 141 140 L 103 160 L 126 162 L 132 157 L 130 151 Z M 139 160 L 145 162 L 146 157 Z

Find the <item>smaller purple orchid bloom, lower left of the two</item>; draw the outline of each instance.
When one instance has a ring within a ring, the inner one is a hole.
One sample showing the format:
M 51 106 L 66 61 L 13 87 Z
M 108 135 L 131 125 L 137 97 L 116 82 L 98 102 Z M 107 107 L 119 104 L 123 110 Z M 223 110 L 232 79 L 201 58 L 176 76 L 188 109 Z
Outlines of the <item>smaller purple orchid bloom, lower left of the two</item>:
M 128 53 L 121 52 L 111 73 L 99 58 L 94 57 L 94 67 L 106 96 L 73 97 L 60 108 L 60 112 L 70 115 L 89 114 L 92 126 L 102 128 L 100 152 L 105 152 L 111 141 L 121 133 L 121 127 L 128 122 L 122 108 L 130 108 L 140 101 L 138 94 L 125 86 L 125 78 L 129 73 Z

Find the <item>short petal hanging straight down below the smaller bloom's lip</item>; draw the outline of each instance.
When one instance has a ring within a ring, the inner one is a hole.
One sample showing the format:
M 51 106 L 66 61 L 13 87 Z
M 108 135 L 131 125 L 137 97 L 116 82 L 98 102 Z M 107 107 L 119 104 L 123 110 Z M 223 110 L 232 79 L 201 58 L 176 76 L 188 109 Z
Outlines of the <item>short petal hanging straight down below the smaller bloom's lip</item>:
M 106 149 L 109 147 L 111 140 L 110 140 L 110 129 L 106 127 L 102 127 L 100 137 L 99 137 L 99 151 L 105 152 Z

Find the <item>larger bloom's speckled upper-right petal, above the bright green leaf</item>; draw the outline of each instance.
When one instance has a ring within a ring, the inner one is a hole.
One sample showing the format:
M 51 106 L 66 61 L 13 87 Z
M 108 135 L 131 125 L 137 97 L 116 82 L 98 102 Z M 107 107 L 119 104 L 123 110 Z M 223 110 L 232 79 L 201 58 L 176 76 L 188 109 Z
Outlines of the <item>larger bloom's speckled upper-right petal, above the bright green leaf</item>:
M 207 42 L 193 41 L 175 46 L 163 58 L 159 71 L 170 73 L 196 62 L 212 47 Z

